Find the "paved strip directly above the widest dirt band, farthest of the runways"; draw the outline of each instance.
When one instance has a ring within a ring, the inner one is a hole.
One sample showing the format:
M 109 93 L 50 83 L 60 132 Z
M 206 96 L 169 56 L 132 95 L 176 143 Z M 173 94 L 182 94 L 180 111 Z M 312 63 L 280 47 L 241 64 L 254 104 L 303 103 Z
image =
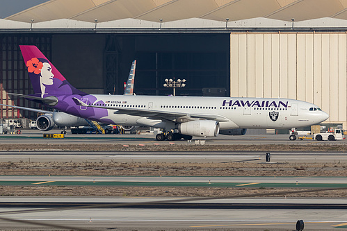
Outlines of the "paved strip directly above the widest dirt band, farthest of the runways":
M 1 162 L 166 162 L 166 163 L 223 163 L 255 162 L 282 163 L 347 163 L 347 153 L 289 153 L 271 152 L 266 163 L 266 152 L 79 152 L 79 151 L 0 151 Z

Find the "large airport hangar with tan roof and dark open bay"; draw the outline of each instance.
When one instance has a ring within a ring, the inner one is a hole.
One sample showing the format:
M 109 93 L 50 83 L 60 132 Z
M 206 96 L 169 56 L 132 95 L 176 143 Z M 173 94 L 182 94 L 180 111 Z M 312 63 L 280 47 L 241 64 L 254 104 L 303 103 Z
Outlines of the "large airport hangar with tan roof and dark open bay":
M 299 99 L 347 129 L 347 0 L 54 0 L 0 19 L 0 100 L 39 107 L 19 44 L 45 53 L 75 87 L 122 94 L 137 60 L 136 94 Z M 33 119 L 2 108 L 1 118 Z

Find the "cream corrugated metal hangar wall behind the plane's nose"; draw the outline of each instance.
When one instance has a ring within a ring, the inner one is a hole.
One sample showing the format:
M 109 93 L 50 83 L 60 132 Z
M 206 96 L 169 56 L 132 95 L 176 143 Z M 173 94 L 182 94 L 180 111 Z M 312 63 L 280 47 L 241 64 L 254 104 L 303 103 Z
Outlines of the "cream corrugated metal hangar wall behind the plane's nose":
M 232 33 L 230 50 L 231 96 L 307 101 L 346 125 L 346 33 Z

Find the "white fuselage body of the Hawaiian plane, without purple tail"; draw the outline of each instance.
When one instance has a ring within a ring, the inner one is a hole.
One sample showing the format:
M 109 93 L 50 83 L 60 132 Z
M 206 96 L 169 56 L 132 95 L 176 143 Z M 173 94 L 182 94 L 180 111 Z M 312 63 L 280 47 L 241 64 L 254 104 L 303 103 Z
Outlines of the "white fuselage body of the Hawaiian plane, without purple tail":
M 300 128 L 321 123 L 328 114 L 319 110 L 310 110 L 318 106 L 293 99 L 271 98 L 229 98 L 198 96 L 124 96 L 92 95 L 97 98 L 92 105 L 106 106 L 108 116 L 99 119 L 111 119 L 115 124 L 129 126 L 152 126 L 167 128 L 168 121 L 182 123 L 194 120 L 194 115 L 216 116 L 220 129 L 234 128 Z M 102 102 L 102 103 L 97 103 Z M 114 109 L 113 109 L 114 108 Z M 124 114 L 122 110 L 143 110 Z M 153 112 L 153 114 L 149 114 Z M 158 113 L 167 113 L 168 121 L 159 119 Z M 176 114 L 175 114 L 176 113 Z M 179 113 L 179 115 L 177 115 Z M 182 115 L 184 114 L 184 115 Z M 211 119 L 213 120 L 213 119 Z M 177 124 L 176 124 L 177 126 Z

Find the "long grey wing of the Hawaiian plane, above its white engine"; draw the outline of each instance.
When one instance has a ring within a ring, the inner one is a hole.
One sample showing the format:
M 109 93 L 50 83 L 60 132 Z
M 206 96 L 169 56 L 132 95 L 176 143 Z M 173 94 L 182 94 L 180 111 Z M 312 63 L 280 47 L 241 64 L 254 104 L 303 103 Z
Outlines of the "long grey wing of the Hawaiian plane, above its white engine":
M 76 103 L 76 105 L 80 105 L 83 107 L 115 110 L 115 112 L 113 112 L 115 114 L 129 114 L 129 115 L 140 116 L 140 117 L 149 117 L 152 119 L 163 119 L 163 120 L 169 120 L 169 121 L 175 121 L 175 119 L 188 119 L 188 120 L 210 119 L 210 120 L 216 120 L 219 122 L 230 121 L 226 117 L 222 117 L 218 114 L 187 114 L 183 112 L 166 112 L 162 110 L 149 110 L 149 109 L 140 109 L 140 108 L 97 106 L 97 105 L 88 105 L 86 103 L 83 103 L 76 97 L 74 97 L 73 100 Z

